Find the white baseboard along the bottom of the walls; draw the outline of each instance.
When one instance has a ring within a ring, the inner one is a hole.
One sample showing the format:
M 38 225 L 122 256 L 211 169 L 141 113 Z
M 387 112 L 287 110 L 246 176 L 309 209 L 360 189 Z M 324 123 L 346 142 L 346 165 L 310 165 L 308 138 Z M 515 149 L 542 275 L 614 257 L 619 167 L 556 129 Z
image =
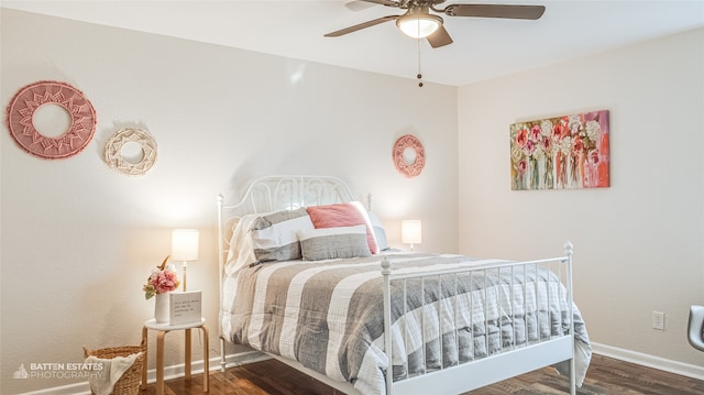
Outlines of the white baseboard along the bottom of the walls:
M 612 345 L 592 343 L 592 350 L 595 354 L 614 358 L 620 361 L 626 361 L 642 366 L 658 369 L 661 371 L 680 374 L 688 377 L 693 377 L 704 381 L 704 367 L 692 365 L 688 363 L 676 362 L 672 360 L 666 360 L 663 358 L 644 354 L 636 351 L 619 349 Z M 237 354 L 228 354 L 226 356 L 227 367 L 239 366 L 248 363 L 258 362 L 271 359 L 271 356 L 257 351 L 249 351 Z M 220 356 L 210 359 L 209 370 L 220 370 Z M 193 362 L 191 372 L 194 374 L 202 373 L 202 361 Z M 185 374 L 184 365 L 172 365 L 164 367 L 164 380 L 183 377 Z M 150 370 L 146 372 L 146 382 L 154 383 L 156 381 L 156 370 Z M 59 387 L 40 389 L 20 395 L 90 395 L 90 386 L 88 382 L 76 383 L 70 385 L 64 385 Z

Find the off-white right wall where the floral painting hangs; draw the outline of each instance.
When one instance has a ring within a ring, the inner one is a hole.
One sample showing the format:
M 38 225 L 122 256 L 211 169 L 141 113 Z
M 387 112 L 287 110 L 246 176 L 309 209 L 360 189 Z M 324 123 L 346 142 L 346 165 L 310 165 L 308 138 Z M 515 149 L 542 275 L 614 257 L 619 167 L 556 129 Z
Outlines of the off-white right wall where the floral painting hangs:
M 704 303 L 704 30 L 464 86 L 458 108 L 460 252 L 558 255 L 569 239 L 594 342 L 701 369 L 685 326 Z M 601 109 L 609 188 L 510 190 L 509 124 Z

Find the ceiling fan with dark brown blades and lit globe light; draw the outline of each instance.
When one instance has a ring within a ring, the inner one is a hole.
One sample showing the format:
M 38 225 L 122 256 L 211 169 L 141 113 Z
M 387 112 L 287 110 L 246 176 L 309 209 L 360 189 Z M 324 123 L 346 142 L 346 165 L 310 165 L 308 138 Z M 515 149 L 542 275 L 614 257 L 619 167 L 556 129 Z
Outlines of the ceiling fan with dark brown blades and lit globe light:
M 414 39 L 427 39 L 430 46 L 438 48 L 452 44 L 452 37 L 442 25 L 442 18 L 430 11 L 448 17 L 504 18 L 537 20 L 546 11 L 544 6 L 512 4 L 449 4 L 443 9 L 437 6 L 446 0 L 358 0 L 369 3 L 406 10 L 403 15 L 386 15 L 350 28 L 326 34 L 326 37 L 338 37 L 358 30 L 371 28 L 387 21 L 396 21 L 396 25 L 406 35 Z

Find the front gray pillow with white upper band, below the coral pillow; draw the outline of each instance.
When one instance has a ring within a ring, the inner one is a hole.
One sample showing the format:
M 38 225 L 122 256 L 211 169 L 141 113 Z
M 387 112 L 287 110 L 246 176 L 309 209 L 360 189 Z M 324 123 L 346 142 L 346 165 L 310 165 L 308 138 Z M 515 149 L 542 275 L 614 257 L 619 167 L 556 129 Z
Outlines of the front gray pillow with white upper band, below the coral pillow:
M 372 256 L 363 224 L 301 230 L 298 238 L 304 261 Z

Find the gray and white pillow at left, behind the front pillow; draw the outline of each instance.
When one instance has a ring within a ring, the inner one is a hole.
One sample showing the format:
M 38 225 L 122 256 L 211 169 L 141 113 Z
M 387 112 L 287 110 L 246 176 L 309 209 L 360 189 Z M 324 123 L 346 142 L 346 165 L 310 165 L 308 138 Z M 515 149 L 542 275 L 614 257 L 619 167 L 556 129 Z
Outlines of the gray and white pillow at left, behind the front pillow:
M 257 262 L 300 260 L 297 232 L 314 229 L 305 208 L 258 217 L 252 223 L 252 246 Z

